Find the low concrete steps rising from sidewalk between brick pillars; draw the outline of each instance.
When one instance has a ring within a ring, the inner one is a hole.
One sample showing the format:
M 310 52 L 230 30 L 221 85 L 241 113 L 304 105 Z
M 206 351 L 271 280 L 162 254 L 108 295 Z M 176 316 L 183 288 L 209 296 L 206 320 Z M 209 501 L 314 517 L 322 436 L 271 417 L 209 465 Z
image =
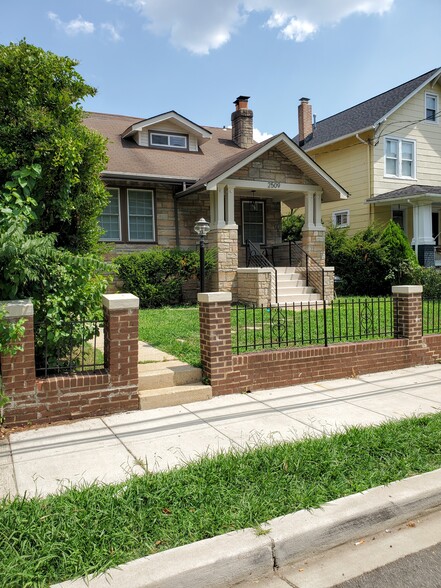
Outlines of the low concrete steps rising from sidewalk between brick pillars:
M 201 382 L 200 368 L 182 361 L 140 363 L 138 369 L 141 410 L 208 400 L 212 397 L 211 386 Z

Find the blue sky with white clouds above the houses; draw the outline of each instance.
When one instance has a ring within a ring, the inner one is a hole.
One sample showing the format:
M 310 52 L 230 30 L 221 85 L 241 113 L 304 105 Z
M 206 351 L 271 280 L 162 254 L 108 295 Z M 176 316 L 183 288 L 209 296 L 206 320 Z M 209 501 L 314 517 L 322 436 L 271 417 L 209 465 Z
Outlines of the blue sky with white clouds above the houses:
M 260 140 L 297 134 L 301 97 L 323 120 L 441 67 L 440 17 L 441 0 L 0 0 L 0 44 L 77 59 L 89 111 L 223 127 L 250 96 Z

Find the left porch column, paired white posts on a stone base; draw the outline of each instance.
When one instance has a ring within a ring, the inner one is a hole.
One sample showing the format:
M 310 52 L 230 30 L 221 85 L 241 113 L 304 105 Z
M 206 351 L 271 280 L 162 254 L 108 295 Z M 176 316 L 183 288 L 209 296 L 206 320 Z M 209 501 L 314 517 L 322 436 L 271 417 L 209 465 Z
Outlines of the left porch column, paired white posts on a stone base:
M 211 289 L 231 292 L 237 299 L 238 227 L 234 221 L 234 187 L 218 186 L 211 192 L 210 202 L 215 208 L 215 222 L 208 233 L 209 247 L 216 252 L 216 268 L 211 278 Z M 226 200 L 226 203 L 225 203 Z M 225 206 L 226 204 L 226 206 Z

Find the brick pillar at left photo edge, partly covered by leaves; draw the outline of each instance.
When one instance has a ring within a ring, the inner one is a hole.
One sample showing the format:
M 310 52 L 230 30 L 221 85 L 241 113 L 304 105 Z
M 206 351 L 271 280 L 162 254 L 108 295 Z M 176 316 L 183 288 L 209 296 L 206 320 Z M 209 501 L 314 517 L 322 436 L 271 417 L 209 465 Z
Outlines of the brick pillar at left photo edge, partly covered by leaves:
M 1 302 L 7 320 L 17 322 L 25 319 L 24 336 L 20 341 L 23 351 L 15 355 L 1 355 L 3 390 L 11 400 L 8 408 L 16 405 L 35 403 L 35 348 L 34 348 L 34 306 L 30 300 Z

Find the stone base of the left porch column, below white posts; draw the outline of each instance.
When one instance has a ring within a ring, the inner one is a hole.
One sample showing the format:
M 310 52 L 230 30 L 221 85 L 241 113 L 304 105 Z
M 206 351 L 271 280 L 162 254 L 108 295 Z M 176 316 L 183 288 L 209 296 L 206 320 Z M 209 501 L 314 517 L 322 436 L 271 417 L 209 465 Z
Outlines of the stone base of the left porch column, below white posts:
M 217 263 L 211 278 L 215 292 L 231 292 L 237 299 L 238 229 L 213 229 L 208 233 L 209 245 L 216 251 Z

